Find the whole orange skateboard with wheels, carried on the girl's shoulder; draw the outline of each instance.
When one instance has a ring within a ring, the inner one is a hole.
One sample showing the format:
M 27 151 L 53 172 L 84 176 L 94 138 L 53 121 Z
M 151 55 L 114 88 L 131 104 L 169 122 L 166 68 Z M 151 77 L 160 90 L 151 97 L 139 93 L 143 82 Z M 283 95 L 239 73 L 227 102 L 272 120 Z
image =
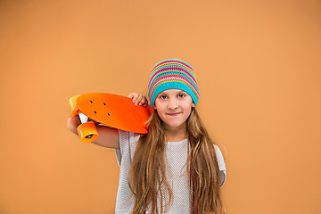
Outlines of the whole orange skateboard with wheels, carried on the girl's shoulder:
M 98 137 L 95 122 L 111 128 L 147 133 L 146 121 L 152 114 L 152 107 L 136 106 L 132 98 L 107 93 L 75 95 L 68 101 L 71 114 L 78 115 L 81 124 L 77 131 L 83 143 L 95 141 Z

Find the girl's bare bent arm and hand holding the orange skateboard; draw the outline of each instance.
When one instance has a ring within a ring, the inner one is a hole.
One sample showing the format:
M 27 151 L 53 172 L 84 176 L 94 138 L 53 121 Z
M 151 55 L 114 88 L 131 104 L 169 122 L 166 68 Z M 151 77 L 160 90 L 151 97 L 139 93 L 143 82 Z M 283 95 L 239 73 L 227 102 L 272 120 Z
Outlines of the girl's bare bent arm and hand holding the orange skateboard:
M 148 101 L 145 96 L 131 93 L 128 97 L 133 99 L 136 105 L 146 107 Z M 78 135 L 77 128 L 81 124 L 78 116 L 70 116 L 67 120 L 67 128 L 76 135 Z M 110 128 L 103 125 L 97 125 L 98 138 L 93 142 L 107 148 L 119 149 L 119 131 L 117 128 Z

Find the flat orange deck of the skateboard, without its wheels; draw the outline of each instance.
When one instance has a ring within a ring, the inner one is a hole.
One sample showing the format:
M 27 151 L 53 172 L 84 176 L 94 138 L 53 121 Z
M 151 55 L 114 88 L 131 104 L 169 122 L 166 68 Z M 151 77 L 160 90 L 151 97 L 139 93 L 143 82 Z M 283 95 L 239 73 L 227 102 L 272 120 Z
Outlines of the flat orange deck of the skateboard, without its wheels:
M 108 93 L 87 93 L 77 98 L 79 111 L 88 118 L 111 128 L 147 133 L 146 121 L 152 114 L 152 107 L 136 106 L 132 98 Z

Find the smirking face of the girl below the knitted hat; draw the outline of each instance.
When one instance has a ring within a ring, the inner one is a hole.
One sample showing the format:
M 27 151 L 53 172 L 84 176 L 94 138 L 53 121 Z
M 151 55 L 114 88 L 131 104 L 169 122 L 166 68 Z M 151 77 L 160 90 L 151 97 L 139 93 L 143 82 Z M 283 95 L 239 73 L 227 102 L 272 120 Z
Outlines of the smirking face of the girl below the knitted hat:
M 154 108 L 165 124 L 165 128 L 183 128 L 186 119 L 195 107 L 192 97 L 185 91 L 169 89 L 161 92 L 155 99 Z

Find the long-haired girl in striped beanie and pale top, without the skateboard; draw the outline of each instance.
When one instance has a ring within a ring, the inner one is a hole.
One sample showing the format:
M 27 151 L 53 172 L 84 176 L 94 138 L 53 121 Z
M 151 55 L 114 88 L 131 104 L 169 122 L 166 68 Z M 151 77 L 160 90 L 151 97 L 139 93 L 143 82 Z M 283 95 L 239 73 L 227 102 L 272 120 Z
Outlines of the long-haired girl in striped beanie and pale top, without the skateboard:
M 143 95 L 128 95 L 143 106 Z M 222 153 L 195 109 L 199 90 L 193 68 L 169 59 L 150 73 L 154 108 L 148 133 L 97 126 L 95 144 L 116 149 L 119 189 L 116 213 L 225 213 L 220 186 L 226 180 Z M 79 120 L 68 127 L 77 134 Z

